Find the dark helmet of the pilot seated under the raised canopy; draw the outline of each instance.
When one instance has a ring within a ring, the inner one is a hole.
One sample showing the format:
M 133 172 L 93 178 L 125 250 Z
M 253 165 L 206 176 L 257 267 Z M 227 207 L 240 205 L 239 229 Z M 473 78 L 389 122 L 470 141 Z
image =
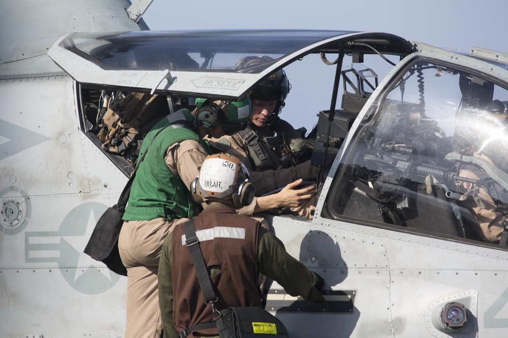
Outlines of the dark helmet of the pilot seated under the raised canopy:
M 253 68 L 261 64 L 273 62 L 273 59 L 267 55 L 263 56 L 246 56 L 242 58 L 235 66 L 235 69 Z M 277 105 L 273 114 L 279 114 L 280 109 L 284 106 L 284 100 L 288 97 L 291 89 L 288 77 L 283 69 L 277 70 L 268 78 L 261 81 L 250 94 L 250 97 L 259 100 L 277 101 Z

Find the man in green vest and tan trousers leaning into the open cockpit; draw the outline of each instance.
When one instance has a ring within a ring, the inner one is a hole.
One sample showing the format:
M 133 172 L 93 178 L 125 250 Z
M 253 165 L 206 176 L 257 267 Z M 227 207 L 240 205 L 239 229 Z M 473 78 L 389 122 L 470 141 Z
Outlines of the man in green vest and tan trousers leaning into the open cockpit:
M 189 192 L 189 184 L 209 155 L 203 137 L 237 133 L 245 128 L 251 113 L 249 98 L 240 102 L 209 100 L 202 108 L 208 110 L 174 112 L 158 122 L 144 139 L 141 154 L 146 152 L 146 156 L 131 187 L 118 241 L 128 274 L 124 338 L 160 336 L 157 269 L 161 246 L 176 224 L 200 211 L 200 205 Z M 175 125 L 164 128 L 175 121 Z M 288 184 L 276 195 L 255 199 L 242 212 L 297 207 L 313 196 L 311 189 L 293 189 L 300 182 Z

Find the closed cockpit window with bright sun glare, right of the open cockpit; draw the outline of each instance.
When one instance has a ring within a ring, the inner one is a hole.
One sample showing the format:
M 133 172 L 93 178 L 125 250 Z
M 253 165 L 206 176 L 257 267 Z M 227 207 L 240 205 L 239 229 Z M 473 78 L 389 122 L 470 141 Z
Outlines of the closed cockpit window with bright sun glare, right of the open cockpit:
M 361 122 L 329 197 L 337 218 L 499 243 L 508 225 L 508 91 L 416 60 Z

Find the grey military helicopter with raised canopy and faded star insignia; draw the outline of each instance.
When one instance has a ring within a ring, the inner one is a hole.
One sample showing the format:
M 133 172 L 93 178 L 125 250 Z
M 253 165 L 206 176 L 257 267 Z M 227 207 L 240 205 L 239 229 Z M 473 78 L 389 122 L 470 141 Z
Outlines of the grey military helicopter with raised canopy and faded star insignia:
M 126 279 L 83 249 L 142 139 L 103 149 L 104 108 L 133 92 L 165 97 L 164 114 L 196 98 L 240 100 L 303 65 L 329 74 L 306 135 L 323 168 L 319 202 L 312 219 L 261 216 L 324 277 L 328 310 L 275 282 L 265 308 L 292 337 L 508 334 L 507 234 L 490 221 L 508 201 L 508 55 L 383 32 L 149 31 L 140 17 L 150 2 L 29 2 L 34 16 L 28 1 L 0 4 L 30 27 L 0 47 L 3 337 L 123 336 Z M 252 55 L 273 61 L 235 69 Z M 382 81 L 371 64 L 388 65 Z

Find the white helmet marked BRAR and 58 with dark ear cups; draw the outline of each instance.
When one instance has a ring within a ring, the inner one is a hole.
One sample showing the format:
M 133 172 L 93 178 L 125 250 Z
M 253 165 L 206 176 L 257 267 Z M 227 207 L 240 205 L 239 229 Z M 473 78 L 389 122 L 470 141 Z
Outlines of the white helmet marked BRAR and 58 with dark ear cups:
M 229 154 L 207 156 L 190 191 L 203 201 L 219 201 L 236 209 L 252 203 L 256 193 L 247 168 Z

